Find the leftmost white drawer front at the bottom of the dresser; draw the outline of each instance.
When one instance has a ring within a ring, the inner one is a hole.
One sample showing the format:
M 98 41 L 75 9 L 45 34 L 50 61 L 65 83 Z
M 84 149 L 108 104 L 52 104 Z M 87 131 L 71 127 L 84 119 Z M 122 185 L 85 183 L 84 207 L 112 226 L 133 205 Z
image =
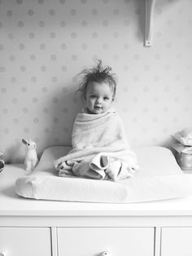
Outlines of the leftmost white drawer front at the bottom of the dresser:
M 0 255 L 51 256 L 50 228 L 0 227 Z

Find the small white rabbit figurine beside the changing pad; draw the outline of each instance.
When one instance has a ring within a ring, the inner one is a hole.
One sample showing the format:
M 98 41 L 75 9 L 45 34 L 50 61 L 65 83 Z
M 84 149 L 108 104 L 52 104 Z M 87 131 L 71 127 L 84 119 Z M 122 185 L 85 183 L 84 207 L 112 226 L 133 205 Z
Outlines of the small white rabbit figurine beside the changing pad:
M 31 139 L 22 139 L 22 142 L 26 145 L 26 155 L 24 157 L 25 170 L 33 170 L 38 162 L 36 143 Z

